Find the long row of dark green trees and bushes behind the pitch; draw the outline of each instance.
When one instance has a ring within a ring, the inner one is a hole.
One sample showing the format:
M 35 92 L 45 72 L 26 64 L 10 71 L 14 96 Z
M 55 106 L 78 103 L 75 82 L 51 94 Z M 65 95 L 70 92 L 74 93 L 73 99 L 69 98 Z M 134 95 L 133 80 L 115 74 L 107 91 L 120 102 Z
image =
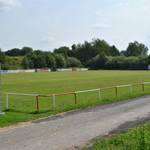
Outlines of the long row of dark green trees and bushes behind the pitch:
M 3 69 L 9 68 L 8 58 L 22 57 L 24 69 L 87 67 L 89 69 L 147 69 L 150 64 L 148 47 L 137 41 L 129 43 L 126 50 L 120 51 L 105 40 L 93 39 L 71 48 L 63 46 L 51 51 L 33 50 L 30 47 L 14 48 L 2 52 L 0 62 Z

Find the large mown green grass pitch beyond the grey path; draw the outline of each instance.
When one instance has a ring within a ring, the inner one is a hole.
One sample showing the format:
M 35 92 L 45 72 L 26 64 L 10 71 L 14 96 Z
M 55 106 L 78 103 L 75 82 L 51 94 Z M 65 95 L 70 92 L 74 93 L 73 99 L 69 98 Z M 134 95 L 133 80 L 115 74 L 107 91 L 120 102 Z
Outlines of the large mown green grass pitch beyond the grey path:
M 5 74 L 3 78 L 3 92 L 50 94 L 72 92 L 92 88 L 103 88 L 120 84 L 141 83 L 150 81 L 149 71 L 88 71 L 88 72 L 54 72 L 54 73 L 20 73 Z M 141 86 L 135 86 L 133 93 L 129 88 L 121 88 L 118 97 L 114 90 L 101 93 L 78 95 L 78 103 L 74 104 L 73 96 L 56 98 L 56 109 L 52 108 L 52 98 L 40 99 L 40 113 L 36 112 L 36 101 L 33 97 L 10 96 L 9 108 L 4 116 L 0 116 L 0 127 L 45 117 L 63 111 L 87 106 L 106 104 L 150 93 L 150 85 L 142 92 Z M 3 95 L 3 109 L 5 109 L 5 95 Z

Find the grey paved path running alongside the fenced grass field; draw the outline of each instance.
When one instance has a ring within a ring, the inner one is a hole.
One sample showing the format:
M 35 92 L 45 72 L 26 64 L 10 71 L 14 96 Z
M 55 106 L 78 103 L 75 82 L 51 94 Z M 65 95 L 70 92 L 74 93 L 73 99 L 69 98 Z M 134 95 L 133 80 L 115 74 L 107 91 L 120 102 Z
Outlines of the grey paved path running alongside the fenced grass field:
M 150 96 L 67 113 L 0 131 L 0 150 L 73 149 L 118 126 L 150 116 Z

